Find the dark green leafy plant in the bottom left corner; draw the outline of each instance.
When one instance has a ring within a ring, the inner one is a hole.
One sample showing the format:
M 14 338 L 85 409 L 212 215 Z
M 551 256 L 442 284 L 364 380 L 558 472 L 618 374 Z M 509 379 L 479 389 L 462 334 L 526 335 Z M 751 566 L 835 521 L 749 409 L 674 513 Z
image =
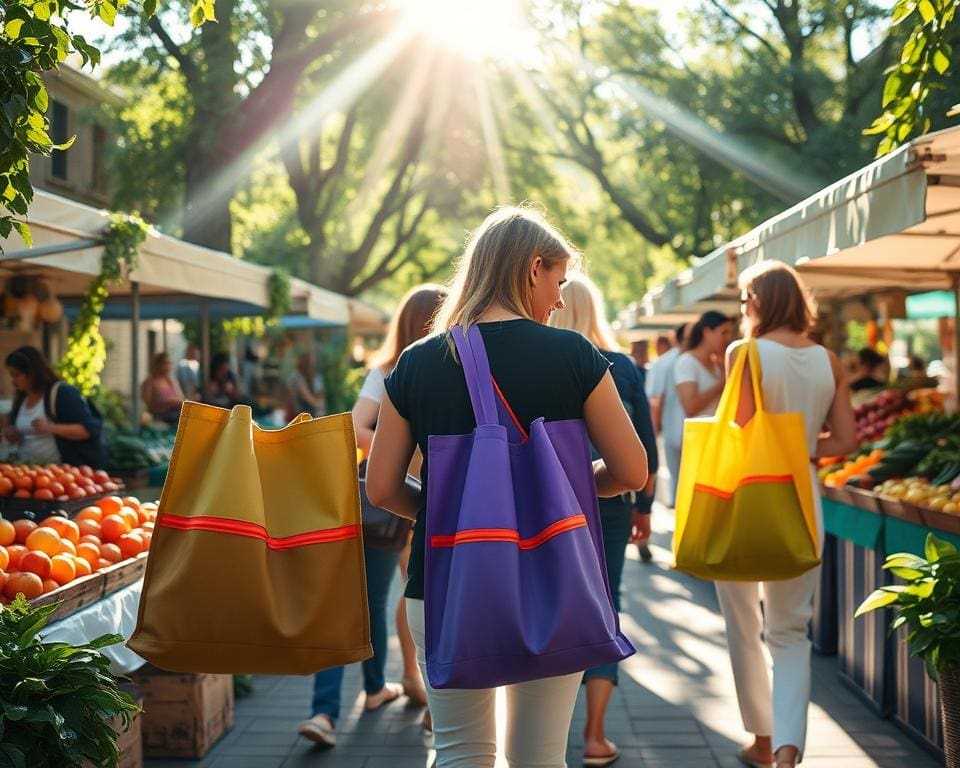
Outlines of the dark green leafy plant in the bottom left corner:
M 32 607 L 23 595 L 0 610 L 0 768 L 116 768 L 117 734 L 137 705 L 117 687 L 99 649 L 104 635 L 72 646 L 38 637 L 56 604 Z

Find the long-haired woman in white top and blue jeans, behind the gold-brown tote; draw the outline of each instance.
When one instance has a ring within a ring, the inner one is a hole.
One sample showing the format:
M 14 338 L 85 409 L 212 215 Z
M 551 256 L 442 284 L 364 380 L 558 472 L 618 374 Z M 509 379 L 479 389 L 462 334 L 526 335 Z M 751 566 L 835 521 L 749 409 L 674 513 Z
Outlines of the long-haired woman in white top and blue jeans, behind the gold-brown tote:
M 357 402 L 353 406 L 353 429 L 357 447 L 364 456 L 370 453 L 373 436 L 377 429 L 381 402 L 384 399 L 384 379 L 390 374 L 403 350 L 422 339 L 430 332 L 433 316 L 446 292 L 439 285 L 420 285 L 407 292 L 390 322 L 387 337 L 370 361 L 370 372 L 363 382 Z M 361 472 L 364 467 L 361 466 Z M 412 457 L 408 471 L 418 475 L 419 456 Z M 406 603 L 397 606 L 396 626 L 403 656 L 403 677 L 399 684 L 386 682 L 384 668 L 387 661 L 387 600 L 394 569 L 399 565 L 404 581 L 407 578 L 407 562 L 410 558 L 410 542 L 402 552 L 378 549 L 373 545 L 364 547 L 364 564 L 367 574 L 367 600 L 370 608 L 370 636 L 373 643 L 373 658 L 363 662 L 363 687 L 366 692 L 364 709 L 371 711 L 396 700 L 401 693 L 419 706 L 427 703 L 423 679 L 417 664 L 417 649 L 407 622 Z M 300 724 L 299 733 L 322 746 L 336 744 L 335 725 L 340 716 L 340 686 L 343 682 L 343 667 L 324 670 L 314 675 L 312 714 Z M 429 727 L 429 712 L 425 725 Z

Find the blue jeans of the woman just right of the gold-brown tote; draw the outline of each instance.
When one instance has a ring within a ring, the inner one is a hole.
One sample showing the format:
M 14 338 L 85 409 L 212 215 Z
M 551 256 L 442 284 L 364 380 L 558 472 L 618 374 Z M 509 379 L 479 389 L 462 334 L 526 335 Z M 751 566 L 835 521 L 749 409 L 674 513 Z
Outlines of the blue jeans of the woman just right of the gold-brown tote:
M 370 640 L 373 658 L 362 662 L 363 689 L 376 693 L 385 684 L 383 670 L 387 665 L 387 600 L 390 585 L 397 571 L 399 552 L 364 547 L 363 561 L 367 570 L 367 608 L 370 611 Z M 336 721 L 340 717 L 340 686 L 343 667 L 333 667 L 313 676 L 313 704 L 310 716 L 327 715 Z

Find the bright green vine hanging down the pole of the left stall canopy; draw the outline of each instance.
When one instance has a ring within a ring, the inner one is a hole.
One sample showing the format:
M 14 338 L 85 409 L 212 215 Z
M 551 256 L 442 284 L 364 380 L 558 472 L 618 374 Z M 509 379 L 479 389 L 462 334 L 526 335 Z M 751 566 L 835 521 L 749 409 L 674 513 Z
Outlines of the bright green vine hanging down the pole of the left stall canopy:
M 70 330 L 67 351 L 57 363 L 57 373 L 84 395 L 100 385 L 100 372 L 107 360 L 107 346 L 100 335 L 100 313 L 110 295 L 110 288 L 128 270 L 137 265 L 137 254 L 147 237 L 149 227 L 136 214 L 114 213 L 104 236 L 100 257 L 100 274 L 90 283 L 80 313 Z

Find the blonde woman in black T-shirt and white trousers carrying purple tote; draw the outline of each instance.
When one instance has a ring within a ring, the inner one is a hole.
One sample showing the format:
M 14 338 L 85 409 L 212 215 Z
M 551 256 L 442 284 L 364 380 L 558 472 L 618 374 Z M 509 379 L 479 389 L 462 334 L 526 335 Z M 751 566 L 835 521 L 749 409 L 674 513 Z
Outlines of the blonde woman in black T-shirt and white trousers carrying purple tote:
M 577 254 L 538 213 L 504 208 L 470 237 L 437 333 L 409 347 L 387 377 L 387 397 L 367 473 L 370 500 L 415 520 L 405 591 L 410 628 L 426 674 L 424 628 L 426 495 L 404 483 L 417 447 L 427 487 L 431 436 L 470 434 L 476 419 L 464 369 L 451 350 L 454 327 L 477 326 L 491 373 L 516 423 L 582 419 L 603 456 L 593 472 L 602 496 L 641 488 L 647 458 L 627 416 L 609 364 L 583 336 L 546 325 L 563 307 L 560 287 Z M 588 466 L 589 470 L 590 467 Z M 518 510 L 522 512 L 522 509 Z M 567 734 L 582 672 L 505 688 L 505 755 L 511 768 L 563 768 Z M 489 768 L 496 760 L 495 689 L 434 689 L 427 684 L 438 768 Z

